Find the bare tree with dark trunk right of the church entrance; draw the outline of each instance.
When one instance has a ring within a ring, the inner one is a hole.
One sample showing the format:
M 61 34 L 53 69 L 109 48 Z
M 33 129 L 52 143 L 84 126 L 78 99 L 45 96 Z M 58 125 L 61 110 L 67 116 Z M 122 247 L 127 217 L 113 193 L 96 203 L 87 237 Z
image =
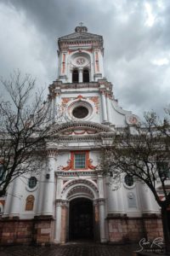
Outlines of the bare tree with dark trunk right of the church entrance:
M 110 172 L 115 182 L 121 173 L 144 182 L 161 207 L 166 251 L 170 252 L 170 230 L 167 207 L 170 205 L 170 122 L 161 122 L 156 113 L 144 115 L 144 124 L 116 132 L 110 147 L 104 149 L 102 169 Z M 161 195 L 159 192 L 161 191 Z

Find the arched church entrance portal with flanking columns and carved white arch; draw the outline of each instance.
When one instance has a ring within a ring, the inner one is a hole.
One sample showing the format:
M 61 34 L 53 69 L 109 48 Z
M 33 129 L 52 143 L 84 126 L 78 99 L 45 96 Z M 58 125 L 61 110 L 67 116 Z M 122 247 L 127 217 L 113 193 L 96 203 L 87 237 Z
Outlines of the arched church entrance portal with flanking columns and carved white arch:
M 56 200 L 55 243 L 71 240 L 105 242 L 105 199 L 97 183 L 73 179 L 65 183 Z

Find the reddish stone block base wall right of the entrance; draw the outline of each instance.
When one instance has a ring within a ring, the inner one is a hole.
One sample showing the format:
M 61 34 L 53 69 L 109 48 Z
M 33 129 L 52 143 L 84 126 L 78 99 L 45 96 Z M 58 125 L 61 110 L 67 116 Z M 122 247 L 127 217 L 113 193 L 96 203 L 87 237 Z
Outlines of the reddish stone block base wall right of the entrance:
M 154 240 L 163 237 L 161 218 L 157 216 L 143 218 L 107 218 L 110 242 L 139 242 L 145 237 Z

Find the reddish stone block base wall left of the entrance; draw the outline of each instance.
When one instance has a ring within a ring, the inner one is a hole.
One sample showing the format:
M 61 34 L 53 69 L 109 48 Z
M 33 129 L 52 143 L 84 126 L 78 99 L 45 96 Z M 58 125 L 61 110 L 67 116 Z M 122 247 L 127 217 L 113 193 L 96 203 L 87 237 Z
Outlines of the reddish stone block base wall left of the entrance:
M 0 219 L 0 244 L 50 244 L 53 225 L 52 219 Z

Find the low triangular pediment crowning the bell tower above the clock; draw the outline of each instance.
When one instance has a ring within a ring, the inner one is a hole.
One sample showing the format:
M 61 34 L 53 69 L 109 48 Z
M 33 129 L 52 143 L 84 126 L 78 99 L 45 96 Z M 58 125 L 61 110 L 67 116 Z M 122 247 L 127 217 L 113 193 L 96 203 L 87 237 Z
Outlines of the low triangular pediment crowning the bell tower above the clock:
M 66 35 L 64 37 L 59 38 L 59 41 L 62 40 L 71 40 L 71 39 L 90 39 L 90 38 L 95 38 L 95 39 L 102 39 L 102 36 L 88 33 L 88 32 L 74 32 L 69 35 Z

